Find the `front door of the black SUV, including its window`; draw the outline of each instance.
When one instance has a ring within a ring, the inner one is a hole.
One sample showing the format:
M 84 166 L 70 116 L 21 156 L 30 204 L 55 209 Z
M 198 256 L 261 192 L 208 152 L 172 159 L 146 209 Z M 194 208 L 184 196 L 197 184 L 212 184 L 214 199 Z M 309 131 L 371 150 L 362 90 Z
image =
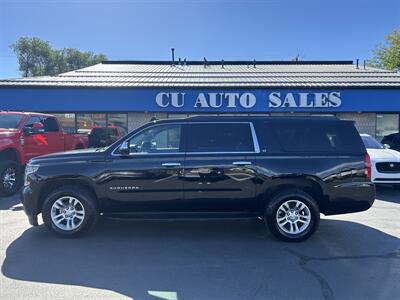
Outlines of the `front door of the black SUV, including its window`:
M 173 212 L 183 208 L 181 125 L 159 124 L 134 135 L 130 155 L 118 154 L 104 177 L 107 205 L 118 212 Z

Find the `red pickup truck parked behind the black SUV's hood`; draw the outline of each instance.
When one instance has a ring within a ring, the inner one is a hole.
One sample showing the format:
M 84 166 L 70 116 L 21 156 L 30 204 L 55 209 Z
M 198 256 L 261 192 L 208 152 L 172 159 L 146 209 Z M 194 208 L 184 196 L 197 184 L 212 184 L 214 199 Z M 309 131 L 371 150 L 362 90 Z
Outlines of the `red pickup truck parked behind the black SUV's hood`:
M 55 116 L 0 112 L 0 196 L 19 190 L 31 158 L 87 146 L 87 136 L 64 133 Z

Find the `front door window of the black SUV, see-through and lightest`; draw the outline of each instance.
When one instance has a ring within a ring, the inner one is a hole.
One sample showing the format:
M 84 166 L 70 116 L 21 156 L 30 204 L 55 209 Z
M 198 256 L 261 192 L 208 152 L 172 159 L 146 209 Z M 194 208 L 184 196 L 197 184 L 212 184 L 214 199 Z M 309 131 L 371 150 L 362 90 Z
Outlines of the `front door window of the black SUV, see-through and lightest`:
M 131 153 L 177 153 L 180 148 L 181 125 L 153 126 L 129 141 Z

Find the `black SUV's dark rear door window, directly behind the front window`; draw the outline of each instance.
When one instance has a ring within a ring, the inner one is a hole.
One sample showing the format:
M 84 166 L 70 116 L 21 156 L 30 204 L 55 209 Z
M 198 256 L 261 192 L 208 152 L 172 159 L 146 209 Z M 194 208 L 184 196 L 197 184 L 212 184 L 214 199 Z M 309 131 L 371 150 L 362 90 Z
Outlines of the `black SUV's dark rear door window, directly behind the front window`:
M 189 124 L 188 152 L 253 152 L 254 144 L 247 123 Z

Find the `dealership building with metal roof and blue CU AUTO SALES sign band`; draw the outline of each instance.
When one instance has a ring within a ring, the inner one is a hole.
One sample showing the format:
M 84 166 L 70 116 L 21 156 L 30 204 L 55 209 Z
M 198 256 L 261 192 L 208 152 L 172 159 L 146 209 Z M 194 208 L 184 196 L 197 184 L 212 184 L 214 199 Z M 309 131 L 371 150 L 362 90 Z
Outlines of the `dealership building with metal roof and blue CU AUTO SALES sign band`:
M 0 80 L 0 110 L 52 113 L 71 133 L 199 114 L 336 115 L 381 139 L 399 132 L 400 74 L 352 61 L 105 61 Z

